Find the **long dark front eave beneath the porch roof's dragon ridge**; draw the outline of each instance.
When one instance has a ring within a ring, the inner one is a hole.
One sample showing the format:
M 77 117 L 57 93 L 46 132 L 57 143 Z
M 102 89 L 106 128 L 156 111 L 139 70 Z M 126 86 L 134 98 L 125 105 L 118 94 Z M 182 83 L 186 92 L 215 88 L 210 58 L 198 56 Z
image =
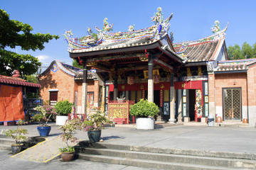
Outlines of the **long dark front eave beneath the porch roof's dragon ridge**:
M 90 52 L 69 52 L 71 58 L 78 58 L 78 57 L 92 57 L 96 55 L 110 55 L 114 53 L 119 53 L 119 52 L 134 52 L 138 50 L 153 50 L 156 49 L 157 47 L 161 47 L 161 44 L 159 40 L 156 40 L 152 42 L 151 44 L 147 45 L 137 45 L 134 47 L 122 47 L 122 48 L 114 48 L 114 49 L 108 49 L 108 50 L 97 50 L 97 51 L 90 51 Z

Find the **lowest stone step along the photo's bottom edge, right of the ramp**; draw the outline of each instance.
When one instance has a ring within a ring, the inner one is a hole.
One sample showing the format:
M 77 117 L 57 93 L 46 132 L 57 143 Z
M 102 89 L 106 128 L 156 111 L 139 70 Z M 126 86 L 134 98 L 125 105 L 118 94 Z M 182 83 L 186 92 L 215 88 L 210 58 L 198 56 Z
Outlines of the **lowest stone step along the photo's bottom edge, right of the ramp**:
M 131 159 L 124 157 L 110 157 L 106 155 L 79 154 L 79 159 L 94 162 L 105 162 L 109 164 L 124 164 L 129 166 L 139 166 L 150 169 L 179 169 L 179 170 L 230 170 L 226 167 L 215 167 L 198 164 L 181 164 L 176 162 L 160 162 L 145 159 Z

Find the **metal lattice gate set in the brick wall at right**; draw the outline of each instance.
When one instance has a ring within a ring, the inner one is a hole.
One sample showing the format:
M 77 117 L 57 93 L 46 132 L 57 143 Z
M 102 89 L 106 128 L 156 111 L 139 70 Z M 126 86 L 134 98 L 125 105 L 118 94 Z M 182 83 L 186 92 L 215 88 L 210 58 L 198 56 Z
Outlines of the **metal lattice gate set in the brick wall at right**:
M 242 120 L 241 89 L 223 89 L 224 120 Z

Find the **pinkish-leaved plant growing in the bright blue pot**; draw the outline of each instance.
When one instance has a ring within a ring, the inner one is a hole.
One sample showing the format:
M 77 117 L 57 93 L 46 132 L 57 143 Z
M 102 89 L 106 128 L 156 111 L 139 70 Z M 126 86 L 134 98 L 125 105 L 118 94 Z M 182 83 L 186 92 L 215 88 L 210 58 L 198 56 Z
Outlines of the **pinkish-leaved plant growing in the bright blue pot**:
M 40 113 L 37 113 L 33 115 L 32 120 L 38 121 L 41 123 L 41 126 L 48 126 L 47 123 L 50 120 L 50 118 L 53 115 L 56 115 L 55 108 L 52 106 L 46 105 L 46 106 L 37 106 L 34 108 L 36 111 L 39 111 Z M 45 123 L 43 123 L 45 122 Z

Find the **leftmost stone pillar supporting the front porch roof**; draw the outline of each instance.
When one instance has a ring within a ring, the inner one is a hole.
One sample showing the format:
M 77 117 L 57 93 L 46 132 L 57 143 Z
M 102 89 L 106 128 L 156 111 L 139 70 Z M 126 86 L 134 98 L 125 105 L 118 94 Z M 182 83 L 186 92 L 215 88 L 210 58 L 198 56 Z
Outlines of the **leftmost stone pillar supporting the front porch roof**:
M 87 117 L 87 60 L 83 60 L 83 71 L 82 71 L 82 112 L 81 114 Z

